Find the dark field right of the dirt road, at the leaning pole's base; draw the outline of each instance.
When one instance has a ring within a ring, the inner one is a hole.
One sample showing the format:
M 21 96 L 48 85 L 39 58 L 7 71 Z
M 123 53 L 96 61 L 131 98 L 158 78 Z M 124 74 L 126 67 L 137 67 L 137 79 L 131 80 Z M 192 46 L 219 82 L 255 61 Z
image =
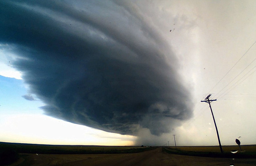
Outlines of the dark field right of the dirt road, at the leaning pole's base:
M 240 151 L 236 146 L 222 146 L 223 153 L 220 152 L 219 146 L 174 146 L 163 147 L 168 153 L 181 154 L 189 156 L 202 156 L 202 157 L 218 157 L 218 158 L 256 158 L 256 145 L 242 145 Z M 233 154 L 231 150 L 238 150 Z

